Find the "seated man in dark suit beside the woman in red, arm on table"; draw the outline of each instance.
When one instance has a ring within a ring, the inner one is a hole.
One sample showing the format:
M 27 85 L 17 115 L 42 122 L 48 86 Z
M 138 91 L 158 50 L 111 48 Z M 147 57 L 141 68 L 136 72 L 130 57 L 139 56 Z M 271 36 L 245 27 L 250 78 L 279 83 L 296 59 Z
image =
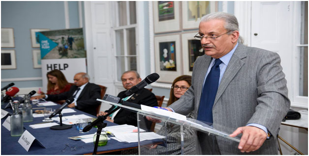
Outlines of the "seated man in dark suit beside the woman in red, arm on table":
M 101 102 L 96 101 L 96 99 L 101 99 L 101 89 L 98 85 L 90 83 L 89 79 L 90 77 L 87 73 L 77 73 L 74 76 L 75 85 L 72 85 L 69 91 L 55 95 L 34 96 L 31 100 L 44 98 L 49 101 L 57 102 L 73 97 L 74 101 L 72 104 L 69 104 L 68 107 L 75 107 L 78 110 L 96 115 L 95 108 L 101 104 Z

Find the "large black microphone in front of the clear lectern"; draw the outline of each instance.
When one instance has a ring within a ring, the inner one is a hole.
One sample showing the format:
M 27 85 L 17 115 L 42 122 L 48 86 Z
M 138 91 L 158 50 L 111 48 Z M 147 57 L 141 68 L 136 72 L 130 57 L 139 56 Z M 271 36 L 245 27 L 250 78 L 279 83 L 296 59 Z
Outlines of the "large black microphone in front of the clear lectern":
M 136 84 L 135 86 L 133 86 L 129 90 L 127 90 L 124 93 L 125 96 L 130 96 L 130 95 L 136 93 L 138 90 L 144 88 L 146 85 L 155 82 L 158 78 L 160 78 L 160 76 L 156 73 L 153 73 L 153 74 L 147 76 L 141 82 L 139 82 L 138 84 Z

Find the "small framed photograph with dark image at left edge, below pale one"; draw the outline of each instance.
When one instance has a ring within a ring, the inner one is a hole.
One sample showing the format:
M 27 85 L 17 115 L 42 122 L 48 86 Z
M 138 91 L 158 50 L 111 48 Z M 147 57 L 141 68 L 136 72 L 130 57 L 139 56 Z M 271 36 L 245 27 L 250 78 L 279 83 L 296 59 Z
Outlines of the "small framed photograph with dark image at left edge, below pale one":
M 1 69 L 16 69 L 15 50 L 1 50 Z

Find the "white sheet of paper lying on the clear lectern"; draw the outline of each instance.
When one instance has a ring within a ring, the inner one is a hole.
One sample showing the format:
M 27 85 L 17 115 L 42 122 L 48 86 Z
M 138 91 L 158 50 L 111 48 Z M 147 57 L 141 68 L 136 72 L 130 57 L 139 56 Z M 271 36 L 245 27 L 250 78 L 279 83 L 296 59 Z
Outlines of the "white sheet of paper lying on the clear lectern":
M 165 116 L 165 117 L 171 117 L 171 118 L 178 119 L 178 120 L 186 120 L 185 115 L 178 114 L 178 113 L 175 113 L 175 112 L 172 112 L 172 111 L 167 111 L 167 110 L 164 110 L 164 109 L 150 107 L 150 106 L 143 105 L 143 104 L 141 104 L 141 109 L 144 110 L 144 111 L 152 112 L 152 113 L 162 115 L 162 116 Z

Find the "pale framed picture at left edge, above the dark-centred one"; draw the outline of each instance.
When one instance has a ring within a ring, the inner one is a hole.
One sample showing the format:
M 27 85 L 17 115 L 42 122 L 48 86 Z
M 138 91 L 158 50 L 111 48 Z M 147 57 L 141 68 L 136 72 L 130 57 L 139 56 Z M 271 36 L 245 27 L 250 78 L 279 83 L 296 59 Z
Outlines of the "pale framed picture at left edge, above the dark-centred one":
M 13 28 L 1 28 L 1 48 L 14 48 Z

